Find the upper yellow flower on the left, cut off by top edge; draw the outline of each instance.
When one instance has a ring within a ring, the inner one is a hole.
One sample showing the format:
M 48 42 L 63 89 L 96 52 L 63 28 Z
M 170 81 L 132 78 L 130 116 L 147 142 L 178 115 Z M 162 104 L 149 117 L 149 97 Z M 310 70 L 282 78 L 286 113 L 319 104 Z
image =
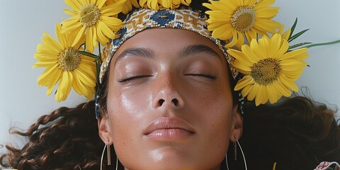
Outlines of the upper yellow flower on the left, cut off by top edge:
M 115 38 L 113 31 L 122 27 L 122 21 L 115 16 L 122 11 L 125 1 L 105 6 L 106 0 L 65 0 L 73 11 L 64 10 L 72 17 L 62 23 L 62 33 L 76 34 L 75 42 L 86 35 L 86 49 L 94 52 L 98 41 L 106 45 L 109 39 Z

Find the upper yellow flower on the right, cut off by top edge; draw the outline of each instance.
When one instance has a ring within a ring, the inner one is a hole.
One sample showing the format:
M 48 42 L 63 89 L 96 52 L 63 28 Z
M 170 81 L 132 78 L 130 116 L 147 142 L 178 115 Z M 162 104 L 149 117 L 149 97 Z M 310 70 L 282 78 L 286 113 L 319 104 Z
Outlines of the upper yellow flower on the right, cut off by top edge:
M 241 47 L 244 36 L 250 42 L 257 34 L 276 33 L 280 23 L 271 19 L 278 13 L 278 8 L 268 7 L 274 2 L 275 0 L 210 0 L 210 4 L 203 4 L 212 10 L 206 11 L 209 15 L 208 30 L 212 31 L 213 38 L 232 38 L 226 47 Z

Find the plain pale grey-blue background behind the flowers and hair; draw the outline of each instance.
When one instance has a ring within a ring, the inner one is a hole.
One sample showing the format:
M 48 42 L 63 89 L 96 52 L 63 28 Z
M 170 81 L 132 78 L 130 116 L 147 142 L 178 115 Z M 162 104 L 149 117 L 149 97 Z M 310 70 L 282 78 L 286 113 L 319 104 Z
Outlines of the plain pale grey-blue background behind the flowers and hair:
M 195 0 L 193 0 L 195 1 Z M 296 30 L 310 30 L 294 42 L 328 42 L 340 39 L 340 0 L 277 0 L 280 6 L 276 21 L 290 28 L 297 17 Z M 46 96 L 46 88 L 36 79 L 43 69 L 33 69 L 33 55 L 46 31 L 55 36 L 55 23 L 68 18 L 62 0 L 0 0 L 0 144 L 21 140 L 8 135 L 12 126 L 27 129 L 40 115 L 60 106 L 77 106 L 86 101 L 72 94 L 57 103 L 55 96 Z M 340 106 L 340 44 L 313 47 L 307 67 L 298 86 L 308 86 L 312 97 Z M 0 153 L 4 149 L 0 149 Z

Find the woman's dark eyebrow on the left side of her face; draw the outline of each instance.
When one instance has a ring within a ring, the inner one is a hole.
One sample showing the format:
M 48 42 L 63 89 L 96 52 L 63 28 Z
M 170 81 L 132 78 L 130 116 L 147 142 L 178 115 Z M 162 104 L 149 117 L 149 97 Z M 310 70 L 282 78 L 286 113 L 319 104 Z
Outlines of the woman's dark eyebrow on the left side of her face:
M 117 64 L 124 57 L 129 56 L 146 57 L 149 59 L 154 59 L 154 52 L 151 49 L 142 47 L 129 48 L 120 53 L 120 55 L 118 55 L 117 60 L 115 60 L 115 64 Z

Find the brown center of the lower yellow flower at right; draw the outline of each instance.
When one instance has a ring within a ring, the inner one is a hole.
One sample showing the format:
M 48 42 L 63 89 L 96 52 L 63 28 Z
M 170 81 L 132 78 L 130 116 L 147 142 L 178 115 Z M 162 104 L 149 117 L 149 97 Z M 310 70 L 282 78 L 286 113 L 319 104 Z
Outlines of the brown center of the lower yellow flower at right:
M 251 77 L 253 77 L 256 83 L 267 85 L 278 79 L 281 70 L 281 65 L 278 60 L 266 58 L 251 67 Z

